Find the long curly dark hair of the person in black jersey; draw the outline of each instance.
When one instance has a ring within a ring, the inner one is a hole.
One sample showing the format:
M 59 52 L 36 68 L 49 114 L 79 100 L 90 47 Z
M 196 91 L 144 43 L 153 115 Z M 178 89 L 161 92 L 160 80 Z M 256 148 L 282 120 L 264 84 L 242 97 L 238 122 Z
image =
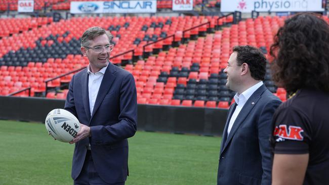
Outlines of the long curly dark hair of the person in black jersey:
M 270 55 L 273 81 L 289 94 L 301 88 L 329 92 L 329 25 L 318 15 L 300 13 L 285 20 Z

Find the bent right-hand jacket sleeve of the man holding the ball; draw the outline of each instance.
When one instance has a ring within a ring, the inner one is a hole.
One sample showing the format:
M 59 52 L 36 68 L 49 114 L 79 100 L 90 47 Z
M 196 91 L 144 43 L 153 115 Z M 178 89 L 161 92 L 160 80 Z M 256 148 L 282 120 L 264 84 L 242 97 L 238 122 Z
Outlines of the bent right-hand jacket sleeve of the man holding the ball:
M 91 126 L 91 145 L 109 144 L 132 137 L 137 130 L 137 92 L 132 74 L 120 86 L 119 122 L 109 126 Z

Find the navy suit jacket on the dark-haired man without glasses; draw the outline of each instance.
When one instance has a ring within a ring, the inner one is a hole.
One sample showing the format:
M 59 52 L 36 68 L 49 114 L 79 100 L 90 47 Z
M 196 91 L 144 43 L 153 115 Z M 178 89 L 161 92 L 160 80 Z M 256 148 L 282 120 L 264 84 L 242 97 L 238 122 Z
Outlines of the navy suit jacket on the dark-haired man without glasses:
M 265 85 L 244 104 L 229 135 L 227 127 L 235 110 L 227 115 L 219 156 L 217 184 L 271 184 L 272 116 L 281 101 Z

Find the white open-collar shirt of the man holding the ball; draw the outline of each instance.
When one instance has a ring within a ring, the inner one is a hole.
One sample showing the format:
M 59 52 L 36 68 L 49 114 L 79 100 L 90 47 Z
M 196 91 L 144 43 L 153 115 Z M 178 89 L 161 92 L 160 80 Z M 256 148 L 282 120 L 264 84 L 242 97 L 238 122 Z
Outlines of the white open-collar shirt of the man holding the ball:
M 108 64 L 107 64 L 108 66 Z M 93 73 L 90 70 L 90 65 L 88 66 L 89 82 L 88 82 L 88 92 L 89 92 L 89 108 L 90 115 L 93 114 L 94 105 L 96 102 L 99 87 L 101 86 L 106 67 L 103 67 L 100 71 Z

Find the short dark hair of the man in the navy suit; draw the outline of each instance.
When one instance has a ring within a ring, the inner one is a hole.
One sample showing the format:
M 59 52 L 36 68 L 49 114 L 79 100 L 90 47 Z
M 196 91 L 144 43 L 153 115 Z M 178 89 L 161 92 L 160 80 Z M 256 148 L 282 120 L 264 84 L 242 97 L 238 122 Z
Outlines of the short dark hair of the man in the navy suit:
M 237 53 L 237 65 L 248 64 L 251 76 L 256 80 L 264 80 L 266 73 L 266 58 L 263 53 L 250 45 L 237 45 L 233 48 Z

